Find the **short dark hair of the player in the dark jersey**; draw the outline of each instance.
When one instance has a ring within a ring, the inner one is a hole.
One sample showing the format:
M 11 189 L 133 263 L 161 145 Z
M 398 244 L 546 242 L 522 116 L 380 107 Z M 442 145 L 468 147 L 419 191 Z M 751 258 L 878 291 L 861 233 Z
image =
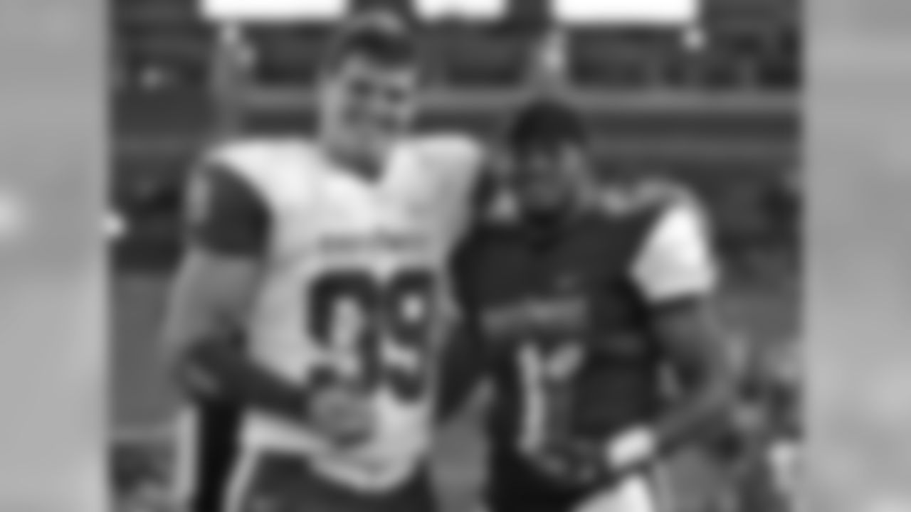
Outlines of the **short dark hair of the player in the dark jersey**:
M 577 110 L 552 97 L 536 98 L 516 112 L 507 125 L 508 148 L 524 151 L 585 144 L 588 135 Z

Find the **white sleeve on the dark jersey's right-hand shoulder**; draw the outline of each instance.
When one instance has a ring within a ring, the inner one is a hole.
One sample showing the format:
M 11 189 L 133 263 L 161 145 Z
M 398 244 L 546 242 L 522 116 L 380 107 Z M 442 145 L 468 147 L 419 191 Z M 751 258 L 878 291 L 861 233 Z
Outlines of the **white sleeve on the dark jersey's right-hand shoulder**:
M 690 205 L 664 212 L 632 267 L 632 279 L 649 302 L 711 292 L 718 268 L 701 210 Z

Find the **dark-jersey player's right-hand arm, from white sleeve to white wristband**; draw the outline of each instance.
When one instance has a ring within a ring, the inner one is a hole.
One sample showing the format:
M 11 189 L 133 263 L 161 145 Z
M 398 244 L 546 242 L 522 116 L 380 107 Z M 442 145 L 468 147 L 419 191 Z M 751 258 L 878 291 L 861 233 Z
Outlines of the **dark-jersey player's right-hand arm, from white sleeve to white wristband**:
M 650 302 L 651 328 L 677 386 L 649 429 L 607 447 L 611 464 L 635 465 L 688 443 L 717 424 L 736 397 L 733 345 L 714 307 L 717 280 L 705 220 L 691 205 L 662 213 L 633 270 Z M 647 461 L 646 461 L 647 462 Z

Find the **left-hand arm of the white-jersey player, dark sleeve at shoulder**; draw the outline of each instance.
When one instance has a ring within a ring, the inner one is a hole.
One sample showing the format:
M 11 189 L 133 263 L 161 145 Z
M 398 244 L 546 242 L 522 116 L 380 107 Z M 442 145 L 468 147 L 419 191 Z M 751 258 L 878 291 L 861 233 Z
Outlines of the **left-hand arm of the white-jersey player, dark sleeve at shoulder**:
M 256 191 L 231 169 L 210 165 L 192 177 L 188 213 L 187 249 L 164 328 L 182 389 L 193 398 L 259 409 L 296 423 L 333 416 L 333 428 L 360 429 L 344 422 L 363 418 L 319 410 L 326 406 L 324 397 L 313 402 L 302 385 L 261 367 L 233 343 L 259 289 L 270 240 L 271 214 Z

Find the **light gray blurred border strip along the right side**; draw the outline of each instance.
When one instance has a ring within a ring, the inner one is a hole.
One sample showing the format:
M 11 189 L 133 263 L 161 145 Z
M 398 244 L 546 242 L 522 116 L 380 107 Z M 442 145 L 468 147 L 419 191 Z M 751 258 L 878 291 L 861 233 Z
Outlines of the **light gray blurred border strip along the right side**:
M 911 3 L 808 13 L 807 510 L 911 510 Z

